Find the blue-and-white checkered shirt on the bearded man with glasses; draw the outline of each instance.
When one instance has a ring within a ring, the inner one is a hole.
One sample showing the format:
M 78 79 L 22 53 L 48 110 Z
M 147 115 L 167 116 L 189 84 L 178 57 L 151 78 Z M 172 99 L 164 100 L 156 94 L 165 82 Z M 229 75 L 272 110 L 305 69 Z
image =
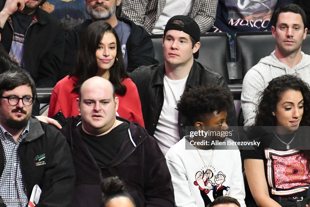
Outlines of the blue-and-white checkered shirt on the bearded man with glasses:
M 7 207 L 25 207 L 28 205 L 26 189 L 17 150 L 20 142 L 29 132 L 29 121 L 24 131 L 20 134 L 18 142 L 0 124 L 0 139 L 3 147 L 4 169 L 0 178 L 0 196 L 2 199 L 26 199 L 27 202 L 5 202 Z

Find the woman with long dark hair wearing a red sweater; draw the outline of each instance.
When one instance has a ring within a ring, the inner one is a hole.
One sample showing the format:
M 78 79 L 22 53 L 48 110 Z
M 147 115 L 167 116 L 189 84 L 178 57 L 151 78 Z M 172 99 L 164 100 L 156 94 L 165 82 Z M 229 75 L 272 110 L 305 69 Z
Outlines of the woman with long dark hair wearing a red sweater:
M 96 21 L 84 32 L 78 61 L 72 74 L 53 88 L 48 117 L 62 111 L 65 117 L 79 114 L 75 99 L 82 83 L 94 76 L 108 79 L 119 99 L 119 116 L 144 127 L 141 102 L 135 84 L 124 69 L 122 47 L 115 30 L 105 21 Z

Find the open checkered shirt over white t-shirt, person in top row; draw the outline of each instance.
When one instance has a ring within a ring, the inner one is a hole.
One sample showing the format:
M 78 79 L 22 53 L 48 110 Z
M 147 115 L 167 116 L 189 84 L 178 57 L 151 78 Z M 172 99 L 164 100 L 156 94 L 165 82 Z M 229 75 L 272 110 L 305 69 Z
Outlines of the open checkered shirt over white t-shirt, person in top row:
M 218 0 L 192 0 L 188 14 L 200 27 L 201 33 L 207 32 L 215 21 Z M 164 9 L 166 0 L 123 0 L 122 17 L 132 20 L 152 33 Z

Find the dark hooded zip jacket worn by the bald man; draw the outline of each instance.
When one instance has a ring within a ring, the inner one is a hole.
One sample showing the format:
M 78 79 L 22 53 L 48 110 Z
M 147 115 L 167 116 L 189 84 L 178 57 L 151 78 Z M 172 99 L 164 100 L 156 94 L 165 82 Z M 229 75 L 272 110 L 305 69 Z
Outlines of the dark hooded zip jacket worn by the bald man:
M 71 149 L 77 176 L 72 206 L 102 206 L 102 179 L 118 176 L 126 183 L 137 207 L 173 207 L 171 176 L 157 142 L 138 123 L 117 119 L 129 123 L 128 138 L 111 163 L 101 169 L 78 133 L 81 116 L 67 118 L 61 129 Z

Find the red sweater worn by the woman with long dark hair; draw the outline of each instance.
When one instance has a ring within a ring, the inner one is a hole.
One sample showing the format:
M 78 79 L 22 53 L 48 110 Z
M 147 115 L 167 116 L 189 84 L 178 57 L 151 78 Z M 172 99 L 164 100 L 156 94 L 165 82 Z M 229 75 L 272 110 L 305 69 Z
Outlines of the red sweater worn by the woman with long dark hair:
M 55 85 L 51 95 L 48 117 L 54 116 L 58 111 L 61 111 L 65 117 L 80 114 L 75 102 L 75 99 L 78 98 L 78 93 L 72 93 L 76 80 L 78 80 L 77 77 L 69 77 L 67 75 Z M 144 127 L 141 101 L 137 87 L 129 78 L 124 79 L 122 83 L 126 86 L 127 91 L 124 96 L 115 94 L 119 100 L 117 113 L 119 116 L 132 122 L 138 122 Z

